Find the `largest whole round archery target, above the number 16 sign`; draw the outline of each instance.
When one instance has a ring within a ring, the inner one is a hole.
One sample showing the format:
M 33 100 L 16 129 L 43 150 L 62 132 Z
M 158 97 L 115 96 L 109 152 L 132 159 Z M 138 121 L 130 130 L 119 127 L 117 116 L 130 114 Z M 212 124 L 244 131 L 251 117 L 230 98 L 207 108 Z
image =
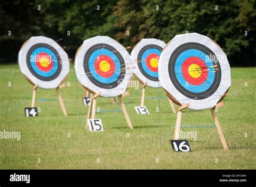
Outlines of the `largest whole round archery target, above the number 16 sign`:
M 180 34 L 161 53 L 159 80 L 181 105 L 189 103 L 194 110 L 213 108 L 231 86 L 230 65 L 210 38 Z

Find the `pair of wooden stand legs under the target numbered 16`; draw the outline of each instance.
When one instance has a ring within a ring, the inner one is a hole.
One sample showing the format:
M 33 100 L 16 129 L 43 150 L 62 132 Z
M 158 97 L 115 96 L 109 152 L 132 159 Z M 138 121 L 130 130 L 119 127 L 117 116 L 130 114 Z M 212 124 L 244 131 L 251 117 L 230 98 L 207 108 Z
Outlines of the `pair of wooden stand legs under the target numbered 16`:
M 180 106 L 179 109 L 178 109 L 173 140 L 179 140 L 182 110 L 188 108 L 188 106 L 189 106 L 188 104 L 185 104 L 185 105 Z M 223 132 L 220 128 L 220 123 L 219 123 L 218 117 L 215 113 L 215 108 L 219 108 L 219 107 L 222 107 L 222 106 L 224 106 L 224 102 L 217 103 L 217 105 L 215 105 L 215 107 L 211 108 L 211 113 L 212 113 L 212 116 L 213 116 L 213 119 L 214 119 L 214 122 L 215 122 L 215 126 L 216 126 L 216 128 L 218 130 L 218 133 L 219 133 L 219 136 L 220 136 L 220 141 L 223 144 L 223 148 L 224 148 L 224 150 L 228 150 L 225 137 L 224 137 Z

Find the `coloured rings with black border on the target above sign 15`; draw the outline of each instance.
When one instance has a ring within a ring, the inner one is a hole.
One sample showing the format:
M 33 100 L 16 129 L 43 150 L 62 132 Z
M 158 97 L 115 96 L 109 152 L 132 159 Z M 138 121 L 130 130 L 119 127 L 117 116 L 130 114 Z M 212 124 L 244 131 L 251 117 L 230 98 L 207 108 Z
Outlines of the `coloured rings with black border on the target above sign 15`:
M 112 89 L 125 75 L 125 63 L 121 54 L 108 44 L 96 44 L 84 56 L 84 71 L 93 84 Z

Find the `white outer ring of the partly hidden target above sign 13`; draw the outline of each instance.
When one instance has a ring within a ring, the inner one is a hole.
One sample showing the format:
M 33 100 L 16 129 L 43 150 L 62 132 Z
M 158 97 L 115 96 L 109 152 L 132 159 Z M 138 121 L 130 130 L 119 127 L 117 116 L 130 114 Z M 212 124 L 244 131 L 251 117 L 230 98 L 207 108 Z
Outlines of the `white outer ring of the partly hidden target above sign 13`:
M 147 86 L 150 86 L 150 87 L 153 87 L 153 88 L 159 88 L 159 87 L 161 87 L 160 82 L 147 79 L 144 76 L 144 74 L 139 70 L 139 66 L 138 66 L 138 63 L 137 63 L 138 54 L 139 54 L 140 50 L 142 50 L 142 48 L 145 47 L 146 45 L 150 45 L 150 44 L 158 45 L 163 49 L 166 45 L 164 43 L 164 41 L 161 41 L 159 39 L 154 39 L 154 38 L 147 38 L 147 39 L 140 40 L 139 43 L 136 46 L 134 46 L 134 48 L 131 52 L 131 58 L 132 58 L 133 64 L 134 64 L 134 74 L 136 74 L 136 76 L 140 80 L 142 80 L 144 83 L 147 82 Z M 159 63 L 158 63 L 158 66 L 159 66 Z

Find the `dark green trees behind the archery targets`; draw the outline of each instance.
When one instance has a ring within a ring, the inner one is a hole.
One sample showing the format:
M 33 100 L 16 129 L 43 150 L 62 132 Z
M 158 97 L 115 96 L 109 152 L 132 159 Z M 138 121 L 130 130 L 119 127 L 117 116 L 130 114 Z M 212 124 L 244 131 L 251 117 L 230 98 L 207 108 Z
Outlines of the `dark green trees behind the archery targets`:
M 74 60 L 83 40 L 97 35 L 133 47 L 142 38 L 167 43 L 176 34 L 197 32 L 215 40 L 231 66 L 256 65 L 255 0 L 0 2 L 0 64 L 16 63 L 19 49 L 31 36 L 58 40 Z

